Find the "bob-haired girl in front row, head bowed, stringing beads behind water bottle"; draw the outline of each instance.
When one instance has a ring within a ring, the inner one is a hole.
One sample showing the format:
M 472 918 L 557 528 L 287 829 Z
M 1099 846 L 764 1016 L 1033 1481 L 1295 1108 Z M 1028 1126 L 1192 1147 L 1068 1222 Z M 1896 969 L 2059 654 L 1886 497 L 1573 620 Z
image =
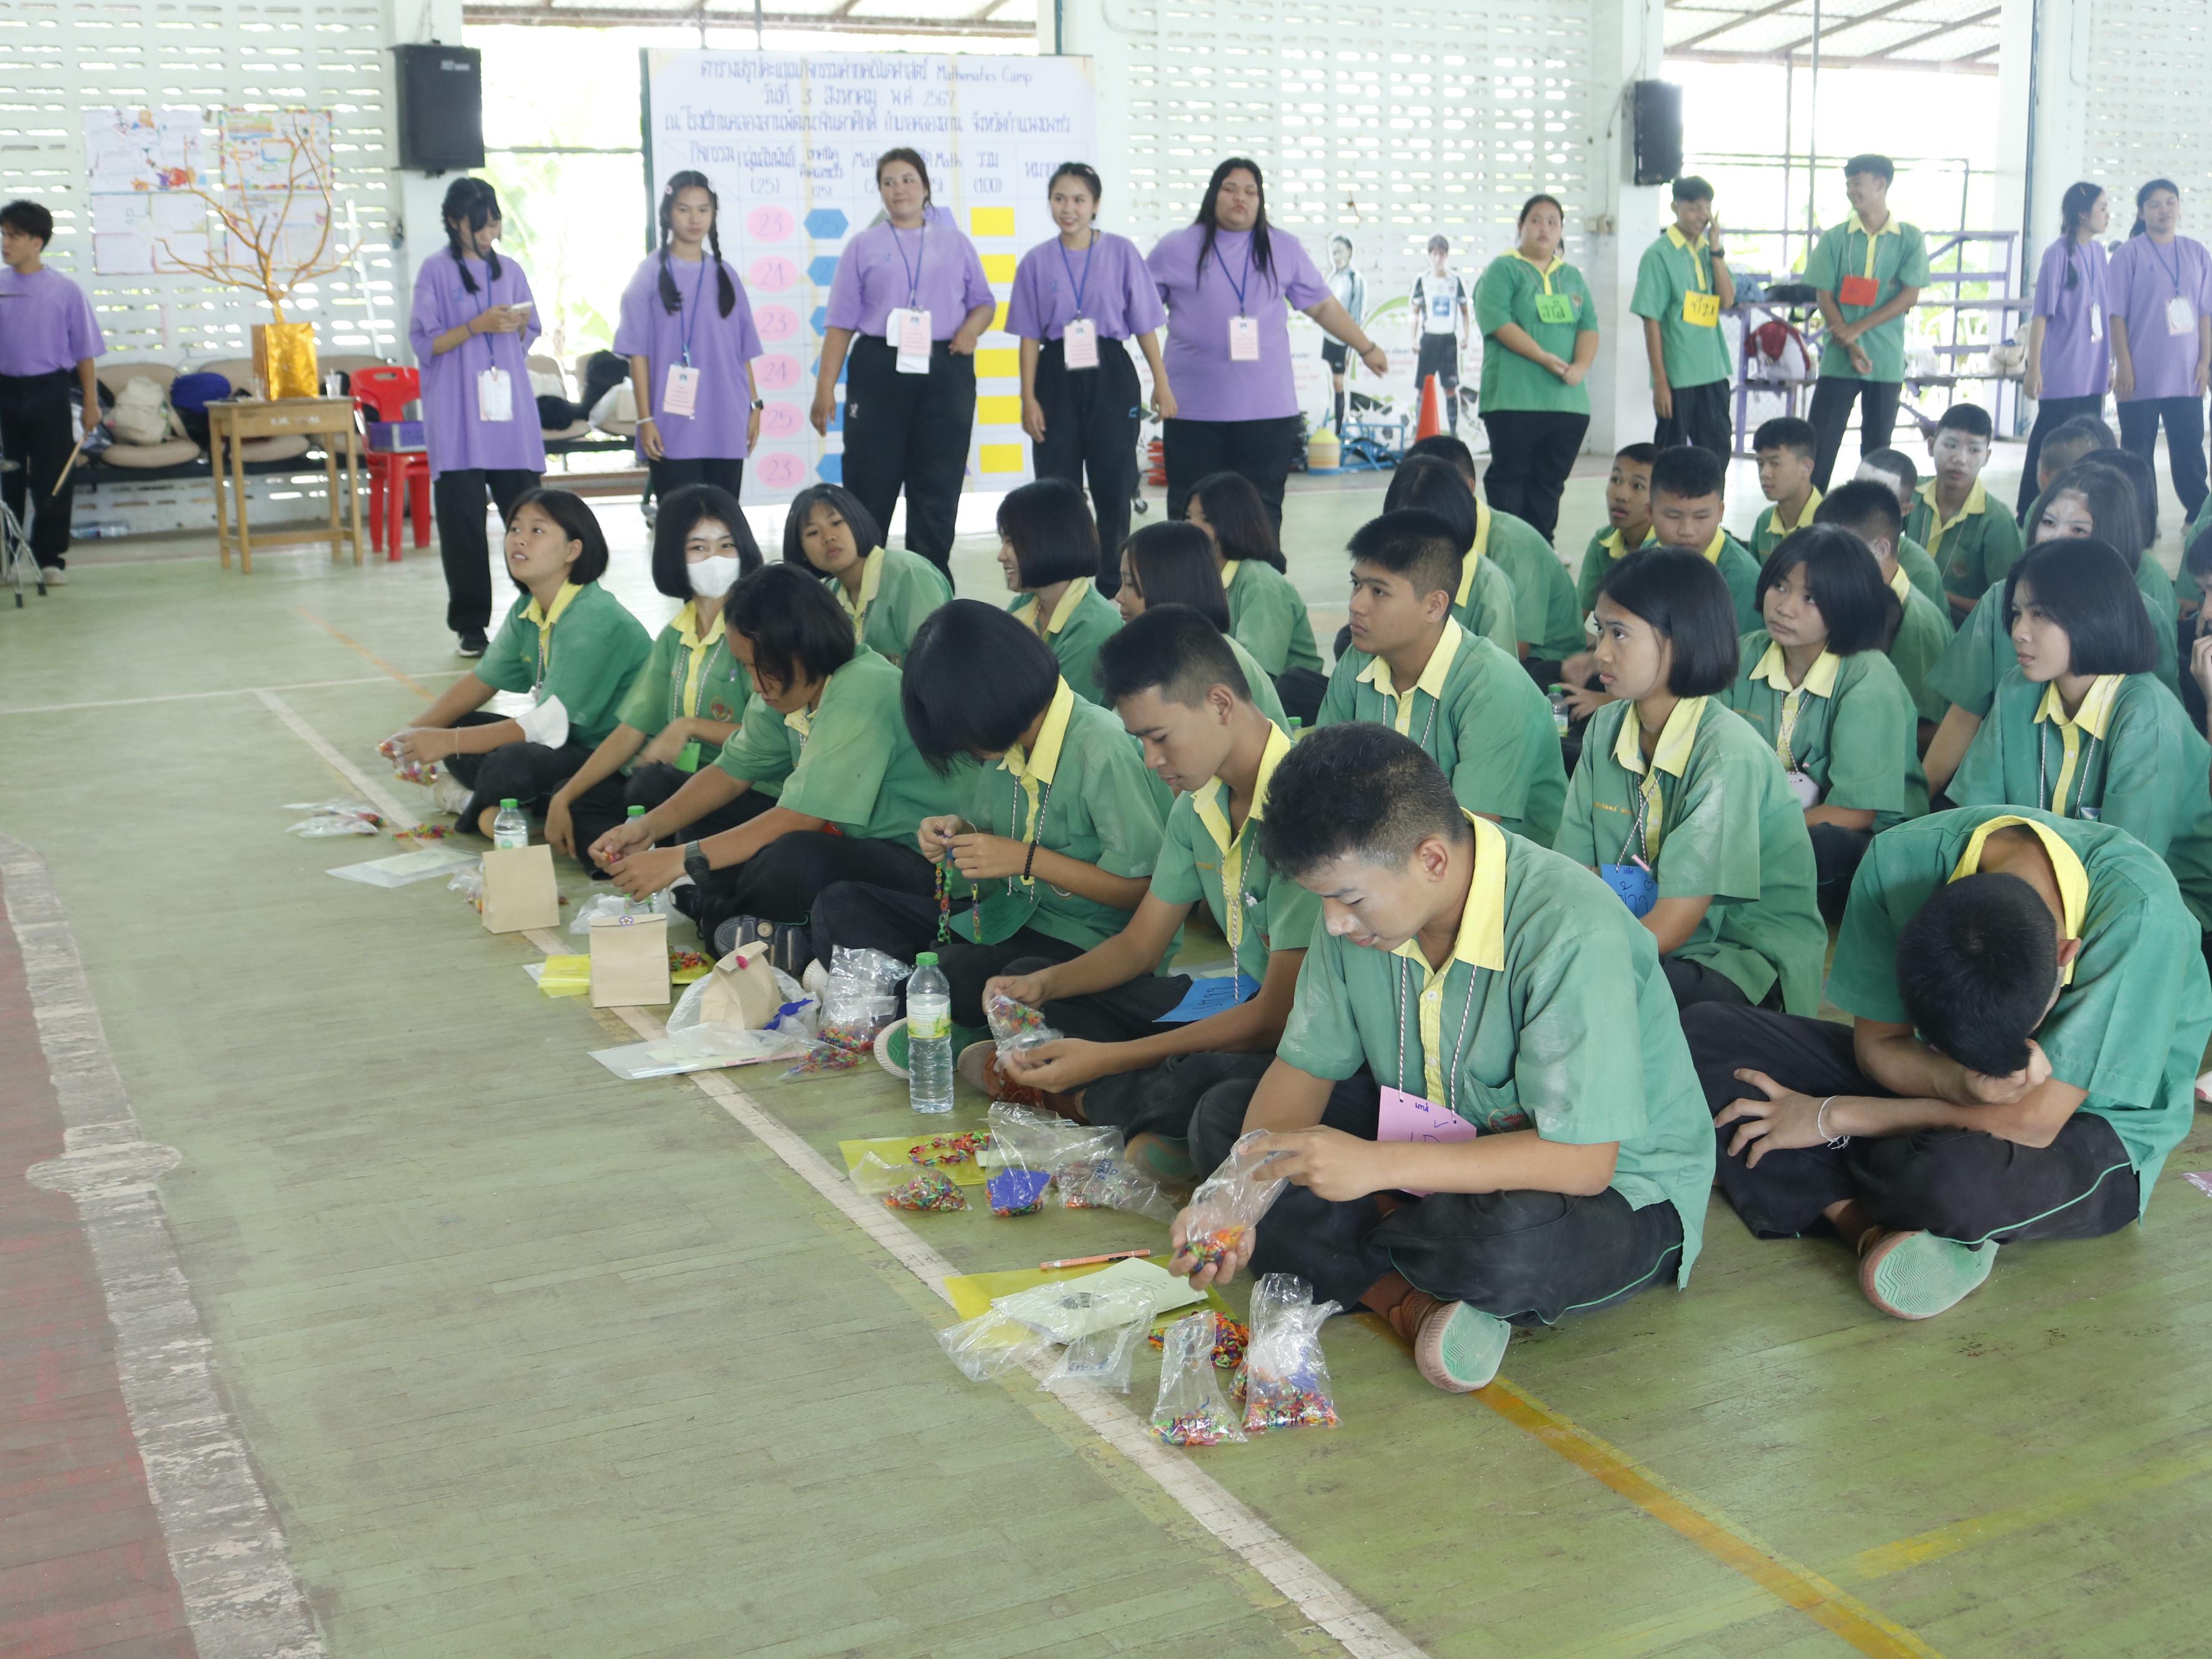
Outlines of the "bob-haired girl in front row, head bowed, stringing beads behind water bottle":
M 953 1024 L 980 1040 L 984 980 L 1020 958 L 1066 962 L 1128 925 L 1161 810 L 1121 721 L 1077 697 L 1044 641 L 995 606 L 953 599 L 922 624 L 900 710 L 920 757 L 967 785 L 958 812 L 916 832 L 951 898 L 951 938 L 933 945 L 929 894 L 838 883 L 814 905 L 814 953 L 845 945 L 911 962 L 936 949 Z M 878 1037 L 876 1055 L 902 1077 L 905 1031 Z

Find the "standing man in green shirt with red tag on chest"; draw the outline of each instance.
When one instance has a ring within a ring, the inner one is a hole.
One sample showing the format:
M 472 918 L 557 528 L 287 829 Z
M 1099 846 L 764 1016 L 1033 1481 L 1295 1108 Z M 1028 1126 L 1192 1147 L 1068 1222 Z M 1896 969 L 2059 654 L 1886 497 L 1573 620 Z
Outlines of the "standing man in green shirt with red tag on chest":
M 1805 261 L 1805 281 L 1820 294 L 1827 345 L 1812 389 L 1809 418 L 1820 434 L 1812 482 L 1827 489 L 1843 451 L 1843 429 L 1858 405 L 1858 451 L 1887 449 L 1905 392 L 1905 312 L 1929 281 L 1927 241 L 1918 226 L 1889 212 L 1887 155 L 1854 155 L 1843 164 L 1851 217 L 1829 226 Z

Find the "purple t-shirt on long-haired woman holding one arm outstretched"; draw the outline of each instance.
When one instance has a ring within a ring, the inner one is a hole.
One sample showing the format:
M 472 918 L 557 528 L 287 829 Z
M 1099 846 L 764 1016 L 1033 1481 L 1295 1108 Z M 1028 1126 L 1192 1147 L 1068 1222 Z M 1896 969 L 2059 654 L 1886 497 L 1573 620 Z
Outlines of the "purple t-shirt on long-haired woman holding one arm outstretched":
M 1161 237 L 1146 265 L 1168 303 L 1168 385 L 1183 420 L 1279 420 L 1298 414 L 1290 369 L 1290 301 L 1301 312 L 1329 296 L 1312 257 L 1281 226 L 1267 228 L 1272 270 L 1252 265 L 1252 232 L 1223 230 L 1199 270 L 1206 226 Z M 1243 288 L 1239 307 L 1237 290 Z M 1230 319 L 1259 319 L 1259 363 L 1230 361 Z

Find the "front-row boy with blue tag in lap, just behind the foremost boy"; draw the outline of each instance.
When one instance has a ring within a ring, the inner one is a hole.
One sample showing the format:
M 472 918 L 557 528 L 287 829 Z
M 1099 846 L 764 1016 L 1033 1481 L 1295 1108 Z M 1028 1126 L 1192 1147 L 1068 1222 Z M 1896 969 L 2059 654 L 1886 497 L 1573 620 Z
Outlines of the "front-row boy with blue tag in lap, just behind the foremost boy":
M 1179 604 L 1148 606 L 1106 641 L 1106 697 L 1144 745 L 1146 765 L 1175 790 L 1152 887 L 1115 938 L 1075 960 L 1013 962 L 993 980 L 1044 1009 L 1066 1033 L 1062 1042 L 1004 1068 L 991 1044 L 960 1057 L 962 1075 L 993 1099 L 1124 1130 L 1130 1157 L 1168 1179 L 1190 1177 L 1199 1095 L 1267 1068 L 1318 918 L 1312 896 L 1276 878 L 1259 849 L 1267 781 L 1290 754 L 1290 737 L 1259 712 L 1228 646 Z M 1232 956 L 1230 973 L 1203 984 L 1164 971 L 1197 902 Z

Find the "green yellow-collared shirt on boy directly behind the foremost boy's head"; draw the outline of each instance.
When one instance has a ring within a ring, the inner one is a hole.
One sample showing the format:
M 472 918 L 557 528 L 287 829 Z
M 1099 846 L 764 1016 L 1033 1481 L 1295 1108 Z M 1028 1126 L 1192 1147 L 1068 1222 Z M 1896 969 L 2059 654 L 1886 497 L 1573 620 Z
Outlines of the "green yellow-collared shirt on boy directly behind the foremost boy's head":
M 1374 721 L 1411 737 L 1469 812 L 1498 818 L 1540 847 L 1559 832 L 1566 765 L 1551 699 L 1513 657 L 1458 622 L 1444 622 L 1420 679 L 1402 695 L 1387 661 L 1347 650 L 1314 714 L 1316 728 L 1343 721 Z

